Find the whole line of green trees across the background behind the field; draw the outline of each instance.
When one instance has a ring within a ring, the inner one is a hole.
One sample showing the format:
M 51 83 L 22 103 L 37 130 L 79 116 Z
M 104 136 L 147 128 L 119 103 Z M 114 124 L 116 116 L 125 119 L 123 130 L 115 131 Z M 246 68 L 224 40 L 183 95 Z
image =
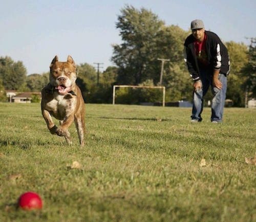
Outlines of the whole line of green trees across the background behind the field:
M 162 85 L 166 87 L 165 101 L 191 100 L 192 80 L 183 60 L 183 43 L 190 31 L 179 26 L 165 25 L 151 10 L 125 6 L 117 17 L 116 28 L 121 37 L 120 45 L 113 45 L 111 60 L 115 66 L 97 72 L 93 65 L 77 65 L 77 84 L 88 103 L 111 103 L 114 84 L 160 85 L 161 60 Z M 220 36 L 221 37 L 221 36 Z M 243 42 L 224 42 L 230 57 L 231 71 L 228 76 L 227 99 L 233 106 L 245 106 L 245 97 L 256 97 L 256 38 L 246 46 Z M 38 92 L 48 83 L 49 73 L 32 74 L 22 61 L 0 57 L 0 99 L 5 90 Z M 117 103 L 138 104 L 161 101 L 161 91 L 120 88 L 116 92 Z M 206 95 L 205 100 L 211 95 Z

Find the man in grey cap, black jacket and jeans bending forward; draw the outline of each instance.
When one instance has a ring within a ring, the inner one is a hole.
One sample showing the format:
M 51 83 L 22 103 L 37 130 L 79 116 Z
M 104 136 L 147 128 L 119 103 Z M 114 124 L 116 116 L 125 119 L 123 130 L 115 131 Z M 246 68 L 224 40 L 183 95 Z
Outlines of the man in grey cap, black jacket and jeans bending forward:
M 203 98 L 209 86 L 213 95 L 211 122 L 222 122 L 229 73 L 228 52 L 218 35 L 205 31 L 202 20 L 191 21 L 191 32 L 184 43 L 184 60 L 194 80 L 191 122 L 201 122 Z

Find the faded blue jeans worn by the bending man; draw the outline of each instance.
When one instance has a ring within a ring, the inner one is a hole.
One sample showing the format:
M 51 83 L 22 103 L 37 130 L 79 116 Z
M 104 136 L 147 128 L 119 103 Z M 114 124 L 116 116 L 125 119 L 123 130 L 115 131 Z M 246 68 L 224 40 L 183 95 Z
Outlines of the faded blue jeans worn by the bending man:
M 201 73 L 202 90 L 193 93 L 193 108 L 191 119 L 202 121 L 201 114 L 203 112 L 204 95 L 207 93 L 209 86 L 213 95 L 211 102 L 211 121 L 222 122 L 223 109 L 226 99 L 227 91 L 227 77 L 224 74 L 219 74 L 219 80 L 222 83 L 222 89 L 212 86 L 212 76 L 207 75 L 205 72 Z

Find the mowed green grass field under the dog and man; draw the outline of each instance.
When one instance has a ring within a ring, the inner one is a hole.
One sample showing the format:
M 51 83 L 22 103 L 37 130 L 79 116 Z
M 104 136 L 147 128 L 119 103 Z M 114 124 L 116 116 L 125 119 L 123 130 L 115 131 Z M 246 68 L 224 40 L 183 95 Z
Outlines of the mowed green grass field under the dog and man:
M 80 147 L 74 124 L 72 146 L 50 134 L 39 104 L 0 103 L 0 221 L 256 221 L 256 109 L 225 108 L 222 124 L 190 113 L 86 104 Z M 41 211 L 16 209 L 26 191 Z

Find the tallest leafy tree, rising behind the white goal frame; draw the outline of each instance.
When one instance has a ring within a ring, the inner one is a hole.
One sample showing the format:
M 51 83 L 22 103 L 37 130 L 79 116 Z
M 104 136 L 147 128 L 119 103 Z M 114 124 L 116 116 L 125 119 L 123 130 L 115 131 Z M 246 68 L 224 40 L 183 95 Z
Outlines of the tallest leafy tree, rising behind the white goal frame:
M 156 35 L 164 25 L 157 15 L 132 6 L 121 9 L 116 28 L 120 29 L 121 45 L 113 45 L 112 61 L 118 66 L 120 84 L 139 84 L 152 75 L 157 62 Z M 154 64 L 153 64 L 154 65 Z

